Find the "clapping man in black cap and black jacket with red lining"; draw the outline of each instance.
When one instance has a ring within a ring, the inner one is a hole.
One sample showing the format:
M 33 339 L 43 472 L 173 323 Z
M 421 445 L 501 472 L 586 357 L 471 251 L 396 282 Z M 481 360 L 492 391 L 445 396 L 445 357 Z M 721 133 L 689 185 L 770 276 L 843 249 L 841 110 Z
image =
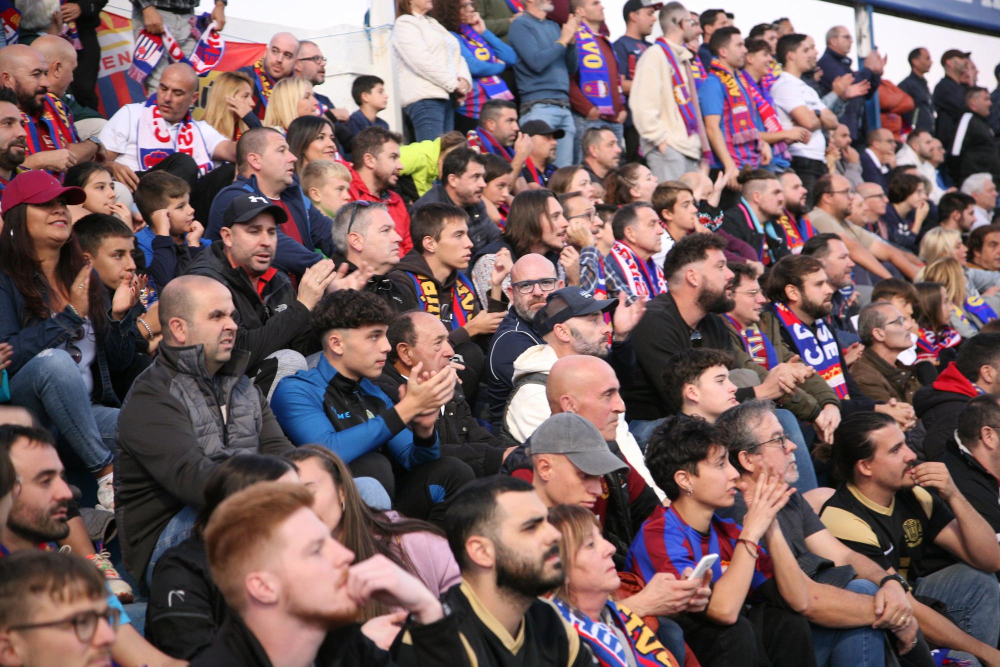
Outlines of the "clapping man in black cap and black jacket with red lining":
M 268 396 L 278 380 L 306 367 L 305 355 L 319 351 L 309 333 L 309 316 L 338 277 L 333 261 L 322 259 L 306 269 L 296 291 L 273 266 L 278 226 L 287 220 L 285 209 L 268 198 L 238 195 L 223 217 L 222 238 L 187 270 L 229 289 L 236 306 L 236 345 L 250 354 L 246 374 Z

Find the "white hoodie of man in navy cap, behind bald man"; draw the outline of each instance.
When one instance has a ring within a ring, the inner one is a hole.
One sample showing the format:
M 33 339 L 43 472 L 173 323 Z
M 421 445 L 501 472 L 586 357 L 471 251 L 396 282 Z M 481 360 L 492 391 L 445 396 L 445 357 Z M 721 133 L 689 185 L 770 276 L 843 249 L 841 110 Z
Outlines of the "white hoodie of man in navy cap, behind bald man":
M 529 347 L 514 361 L 514 384 L 517 384 L 517 381 L 528 373 L 548 375 L 558 359 L 559 357 L 556 356 L 550 345 Z M 518 442 L 524 443 L 535 432 L 535 429 L 551 416 L 552 411 L 549 410 L 549 401 L 545 396 L 545 385 L 529 383 L 521 386 L 514 394 L 507 407 L 507 412 L 504 414 L 504 423 L 511 435 Z M 660 500 L 666 498 L 667 495 L 653 482 L 653 477 L 649 474 L 649 469 L 643 460 L 642 451 L 639 449 L 635 437 L 628 430 L 624 414 L 618 415 L 615 441 L 628 464 L 642 475 L 646 484 L 656 492 Z

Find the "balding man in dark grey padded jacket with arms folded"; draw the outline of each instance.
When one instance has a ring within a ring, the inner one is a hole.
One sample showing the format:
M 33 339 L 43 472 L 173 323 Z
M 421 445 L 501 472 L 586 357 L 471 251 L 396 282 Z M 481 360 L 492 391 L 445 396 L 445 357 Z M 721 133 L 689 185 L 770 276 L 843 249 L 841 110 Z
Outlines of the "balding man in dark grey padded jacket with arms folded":
M 280 456 L 291 443 L 234 349 L 225 285 L 174 278 L 160 292 L 163 342 L 118 418 L 115 512 L 125 565 L 149 588 L 157 559 L 191 532 L 205 482 L 240 452 Z

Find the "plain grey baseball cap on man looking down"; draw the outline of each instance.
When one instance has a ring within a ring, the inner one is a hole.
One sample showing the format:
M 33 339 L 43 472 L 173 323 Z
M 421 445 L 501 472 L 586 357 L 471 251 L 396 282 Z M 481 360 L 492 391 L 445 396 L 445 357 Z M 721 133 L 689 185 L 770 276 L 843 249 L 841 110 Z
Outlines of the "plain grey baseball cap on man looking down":
M 597 427 L 572 412 L 560 412 L 543 421 L 531 434 L 531 453 L 565 454 L 587 475 L 607 475 L 628 468 L 611 453 Z

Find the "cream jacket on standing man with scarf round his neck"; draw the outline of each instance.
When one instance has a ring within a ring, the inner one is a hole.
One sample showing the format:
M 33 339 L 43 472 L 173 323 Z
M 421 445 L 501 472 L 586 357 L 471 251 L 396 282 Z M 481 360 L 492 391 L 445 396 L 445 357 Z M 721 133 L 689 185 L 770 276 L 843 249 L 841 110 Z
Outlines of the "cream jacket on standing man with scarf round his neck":
M 691 60 L 691 52 L 683 46 L 668 42 L 674 49 L 678 64 Z M 698 109 L 698 127 L 704 132 L 701 120 L 701 107 L 698 107 L 698 92 L 691 79 L 689 67 L 684 67 L 684 78 L 687 89 L 694 97 Z M 646 49 L 635 65 L 635 77 L 632 79 L 632 92 L 629 93 L 629 108 L 632 110 L 632 120 L 635 129 L 642 137 L 643 149 L 654 149 L 667 142 L 667 146 L 678 153 L 700 160 L 702 157 L 702 137 L 699 134 L 688 136 L 681 110 L 674 97 L 673 69 L 663 49 L 654 45 Z M 707 147 L 707 144 L 705 144 Z

